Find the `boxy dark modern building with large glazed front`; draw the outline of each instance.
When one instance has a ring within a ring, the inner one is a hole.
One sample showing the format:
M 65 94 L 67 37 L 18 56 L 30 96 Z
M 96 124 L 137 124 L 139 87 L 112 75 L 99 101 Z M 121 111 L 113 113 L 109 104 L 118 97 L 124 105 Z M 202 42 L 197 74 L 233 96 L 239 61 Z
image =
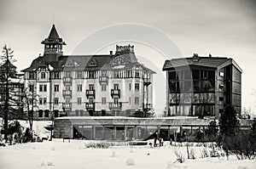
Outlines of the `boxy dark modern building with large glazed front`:
M 166 60 L 168 116 L 217 116 L 232 104 L 241 115 L 241 68 L 234 59 L 200 57 Z

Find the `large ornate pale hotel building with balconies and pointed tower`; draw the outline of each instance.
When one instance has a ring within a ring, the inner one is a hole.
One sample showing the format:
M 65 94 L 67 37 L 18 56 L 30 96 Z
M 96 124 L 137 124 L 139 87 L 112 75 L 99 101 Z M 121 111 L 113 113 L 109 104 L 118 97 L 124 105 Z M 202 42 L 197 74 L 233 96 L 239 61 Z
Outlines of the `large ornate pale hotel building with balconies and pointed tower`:
M 152 109 L 154 71 L 137 62 L 133 46 L 104 55 L 64 55 L 66 42 L 55 25 L 41 43 L 44 55 L 23 70 L 25 87 L 38 95 L 35 118 L 130 116 L 137 110 L 145 115 Z

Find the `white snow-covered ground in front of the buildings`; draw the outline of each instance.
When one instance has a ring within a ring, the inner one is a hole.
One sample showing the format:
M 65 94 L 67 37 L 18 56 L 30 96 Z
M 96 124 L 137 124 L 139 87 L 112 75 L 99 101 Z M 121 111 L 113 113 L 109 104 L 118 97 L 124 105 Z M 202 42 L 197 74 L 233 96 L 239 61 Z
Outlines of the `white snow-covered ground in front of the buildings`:
M 71 140 L 65 143 L 61 139 L 52 142 L 15 144 L 0 147 L 1 169 L 34 169 L 34 168 L 60 168 L 60 169 L 253 169 L 255 160 L 238 161 L 235 156 L 200 158 L 202 147 L 189 147 L 195 150 L 195 160 L 185 160 L 178 163 L 174 154 L 176 149 L 183 152 L 185 158 L 186 147 L 165 146 L 150 148 L 149 146 L 123 146 L 109 149 L 85 148 L 89 141 Z M 130 164 L 131 166 L 127 166 Z

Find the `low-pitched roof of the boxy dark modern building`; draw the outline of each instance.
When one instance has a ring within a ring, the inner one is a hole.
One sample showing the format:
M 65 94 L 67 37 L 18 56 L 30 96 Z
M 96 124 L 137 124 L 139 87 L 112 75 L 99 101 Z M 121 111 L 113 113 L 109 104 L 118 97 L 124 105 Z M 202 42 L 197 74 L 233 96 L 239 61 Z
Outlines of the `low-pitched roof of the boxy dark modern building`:
M 233 59 L 229 59 L 226 57 L 195 57 L 190 58 L 179 58 L 179 59 L 171 59 L 166 60 L 165 65 L 163 66 L 163 70 L 169 70 L 177 67 L 182 66 L 190 66 L 190 65 L 197 65 L 197 66 L 205 66 L 217 69 L 220 65 L 223 65 L 226 62 L 234 62 Z M 241 68 L 238 65 L 235 65 L 238 70 Z

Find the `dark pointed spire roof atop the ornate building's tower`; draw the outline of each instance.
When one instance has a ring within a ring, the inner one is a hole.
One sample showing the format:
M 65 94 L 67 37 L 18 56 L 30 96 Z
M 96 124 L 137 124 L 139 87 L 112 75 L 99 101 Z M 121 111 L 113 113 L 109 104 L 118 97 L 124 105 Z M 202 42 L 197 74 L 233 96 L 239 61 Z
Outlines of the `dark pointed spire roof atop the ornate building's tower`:
M 55 25 L 52 25 L 51 30 L 49 31 L 49 36 L 47 38 L 44 39 L 43 42 L 41 42 L 43 44 L 62 44 L 62 45 L 66 45 L 66 43 L 62 40 L 62 38 L 59 36 Z

